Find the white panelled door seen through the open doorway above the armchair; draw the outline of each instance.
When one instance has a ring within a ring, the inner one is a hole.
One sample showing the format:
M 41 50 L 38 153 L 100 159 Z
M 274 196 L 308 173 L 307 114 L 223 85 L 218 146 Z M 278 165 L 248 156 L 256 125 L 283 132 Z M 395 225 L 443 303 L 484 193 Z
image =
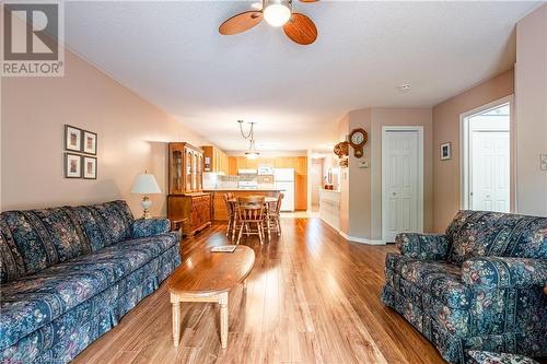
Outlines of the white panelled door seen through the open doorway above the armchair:
M 509 131 L 473 131 L 470 145 L 472 209 L 510 210 Z

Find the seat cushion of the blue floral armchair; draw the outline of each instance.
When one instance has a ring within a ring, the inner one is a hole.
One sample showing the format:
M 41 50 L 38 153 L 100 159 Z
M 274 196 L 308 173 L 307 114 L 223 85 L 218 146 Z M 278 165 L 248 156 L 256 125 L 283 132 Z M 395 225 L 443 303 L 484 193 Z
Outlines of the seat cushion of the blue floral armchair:
M 405 259 L 406 260 L 406 259 Z M 469 287 L 462 282 L 462 269 L 443 261 L 406 260 L 399 274 L 407 282 L 449 307 L 465 309 L 470 304 Z

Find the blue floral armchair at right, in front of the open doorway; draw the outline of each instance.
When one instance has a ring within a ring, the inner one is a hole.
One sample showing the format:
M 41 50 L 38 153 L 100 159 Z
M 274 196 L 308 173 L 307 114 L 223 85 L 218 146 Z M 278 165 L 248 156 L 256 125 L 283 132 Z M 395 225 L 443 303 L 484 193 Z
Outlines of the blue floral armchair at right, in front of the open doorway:
M 445 235 L 399 234 L 382 301 L 450 363 L 547 355 L 547 218 L 459 211 Z

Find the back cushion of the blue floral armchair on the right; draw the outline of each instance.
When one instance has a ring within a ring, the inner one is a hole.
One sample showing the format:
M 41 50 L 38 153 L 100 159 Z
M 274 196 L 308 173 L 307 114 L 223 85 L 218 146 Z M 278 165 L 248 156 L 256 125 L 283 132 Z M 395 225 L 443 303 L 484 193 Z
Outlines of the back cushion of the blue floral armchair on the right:
M 547 218 L 486 211 L 459 211 L 446 235 L 449 261 L 461 266 L 473 257 L 547 258 Z

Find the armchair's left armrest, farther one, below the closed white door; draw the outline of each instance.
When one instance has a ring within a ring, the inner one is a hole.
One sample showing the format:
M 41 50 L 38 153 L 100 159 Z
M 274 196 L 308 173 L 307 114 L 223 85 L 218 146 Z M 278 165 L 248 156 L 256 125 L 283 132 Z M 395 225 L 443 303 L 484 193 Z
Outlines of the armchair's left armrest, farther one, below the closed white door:
M 446 235 L 401 233 L 395 238 L 400 254 L 419 260 L 446 260 L 452 245 Z

